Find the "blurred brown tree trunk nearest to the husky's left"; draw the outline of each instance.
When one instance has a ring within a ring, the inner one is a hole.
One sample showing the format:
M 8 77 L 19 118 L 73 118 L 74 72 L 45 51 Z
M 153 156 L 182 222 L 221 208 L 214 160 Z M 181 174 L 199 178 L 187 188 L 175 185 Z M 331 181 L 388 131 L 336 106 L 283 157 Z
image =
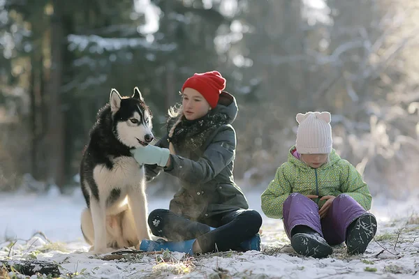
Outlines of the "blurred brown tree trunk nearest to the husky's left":
M 47 180 L 64 186 L 64 114 L 61 110 L 61 81 L 63 72 L 64 28 L 62 6 L 66 3 L 53 0 L 54 15 L 51 17 L 51 68 L 47 81 Z

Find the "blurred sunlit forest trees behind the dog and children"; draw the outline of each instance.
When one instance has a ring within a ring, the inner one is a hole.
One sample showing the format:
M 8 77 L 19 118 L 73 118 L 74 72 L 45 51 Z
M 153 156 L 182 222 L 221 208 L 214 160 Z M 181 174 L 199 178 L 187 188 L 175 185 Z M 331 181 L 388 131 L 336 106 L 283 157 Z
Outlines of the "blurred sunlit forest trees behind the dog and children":
M 297 112 L 329 110 L 335 148 L 372 192 L 409 193 L 419 178 L 418 5 L 0 0 L 0 188 L 77 185 L 112 87 L 138 86 L 161 136 L 184 80 L 216 69 L 240 105 L 240 186 L 272 179 Z

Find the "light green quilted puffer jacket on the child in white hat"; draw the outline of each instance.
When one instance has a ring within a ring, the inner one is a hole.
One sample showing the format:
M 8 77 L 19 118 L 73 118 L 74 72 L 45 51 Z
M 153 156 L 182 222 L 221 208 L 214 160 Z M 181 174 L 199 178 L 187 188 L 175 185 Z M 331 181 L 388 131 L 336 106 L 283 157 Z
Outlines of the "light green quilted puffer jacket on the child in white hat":
M 277 169 L 274 180 L 263 192 L 260 199 L 262 210 L 267 217 L 282 218 L 282 206 L 291 193 L 318 195 L 313 199 L 321 208 L 326 202 L 320 197 L 347 194 L 353 197 L 365 210 L 371 208 L 372 196 L 360 173 L 347 160 L 341 159 L 332 149 L 330 162 L 318 167 L 309 167 L 306 163 L 288 153 L 288 161 Z

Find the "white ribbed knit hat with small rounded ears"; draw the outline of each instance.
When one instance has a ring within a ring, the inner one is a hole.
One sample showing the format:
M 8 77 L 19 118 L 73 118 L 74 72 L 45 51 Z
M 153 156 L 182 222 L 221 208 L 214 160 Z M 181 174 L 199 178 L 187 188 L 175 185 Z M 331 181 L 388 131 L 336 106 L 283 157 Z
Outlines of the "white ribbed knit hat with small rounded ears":
M 330 112 L 297 114 L 300 124 L 295 147 L 300 154 L 328 154 L 332 151 L 332 127 Z

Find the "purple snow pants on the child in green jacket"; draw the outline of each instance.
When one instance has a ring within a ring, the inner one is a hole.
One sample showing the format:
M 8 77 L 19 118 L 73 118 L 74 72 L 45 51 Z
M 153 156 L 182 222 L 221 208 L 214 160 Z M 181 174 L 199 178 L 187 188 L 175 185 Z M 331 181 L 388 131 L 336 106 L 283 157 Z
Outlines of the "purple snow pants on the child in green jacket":
M 306 225 L 321 234 L 330 245 L 338 245 L 346 239 L 346 229 L 365 209 L 349 195 L 338 195 L 324 218 L 318 215 L 318 206 L 300 193 L 291 194 L 284 202 L 284 229 L 291 239 L 291 230 Z

